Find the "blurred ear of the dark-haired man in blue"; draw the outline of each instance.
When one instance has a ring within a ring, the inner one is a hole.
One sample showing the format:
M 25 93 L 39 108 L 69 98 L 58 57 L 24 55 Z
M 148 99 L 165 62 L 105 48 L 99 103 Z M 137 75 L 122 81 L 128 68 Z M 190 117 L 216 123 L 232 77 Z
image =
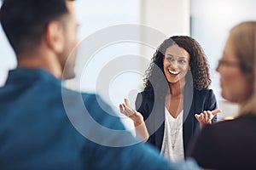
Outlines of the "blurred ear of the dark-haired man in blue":
M 61 22 L 49 22 L 45 31 L 45 38 L 49 48 L 52 48 L 56 53 L 61 53 L 64 48 L 64 28 Z

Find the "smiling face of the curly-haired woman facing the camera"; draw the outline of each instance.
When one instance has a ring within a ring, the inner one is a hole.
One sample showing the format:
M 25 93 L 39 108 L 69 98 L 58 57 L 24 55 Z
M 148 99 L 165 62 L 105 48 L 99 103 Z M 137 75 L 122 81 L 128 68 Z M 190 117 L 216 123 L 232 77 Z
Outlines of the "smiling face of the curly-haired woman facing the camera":
M 168 82 L 185 81 L 185 76 L 189 70 L 189 58 L 189 53 L 184 48 L 177 45 L 166 48 L 163 65 Z

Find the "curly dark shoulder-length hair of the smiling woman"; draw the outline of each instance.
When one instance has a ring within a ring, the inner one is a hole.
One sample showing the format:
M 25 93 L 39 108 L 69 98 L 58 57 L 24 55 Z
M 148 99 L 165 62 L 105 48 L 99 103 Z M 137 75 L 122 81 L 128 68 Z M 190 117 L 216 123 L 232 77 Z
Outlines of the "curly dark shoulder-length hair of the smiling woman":
M 168 87 L 165 87 L 163 84 L 166 83 L 167 79 L 160 75 L 165 74 L 163 69 L 163 58 L 166 54 L 166 48 L 169 48 L 174 44 L 184 48 L 190 55 L 189 66 L 193 80 L 186 76 L 186 83 L 193 85 L 197 90 L 202 90 L 208 88 L 212 82 L 210 79 L 207 57 L 201 48 L 201 45 L 192 37 L 174 36 L 166 39 L 160 44 L 160 47 L 154 53 L 154 57 L 151 59 L 151 64 L 146 71 L 144 78 L 144 92 L 151 97 L 154 96 L 154 93 L 161 98 L 166 96 Z

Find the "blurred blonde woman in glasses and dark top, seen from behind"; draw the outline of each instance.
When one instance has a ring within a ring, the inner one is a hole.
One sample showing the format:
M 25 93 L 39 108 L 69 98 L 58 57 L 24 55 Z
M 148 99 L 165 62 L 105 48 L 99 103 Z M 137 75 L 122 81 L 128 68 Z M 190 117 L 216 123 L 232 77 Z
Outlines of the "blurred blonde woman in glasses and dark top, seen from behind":
M 256 21 L 242 22 L 230 30 L 218 62 L 221 94 L 240 105 L 234 120 L 205 126 L 190 156 L 201 167 L 256 169 Z

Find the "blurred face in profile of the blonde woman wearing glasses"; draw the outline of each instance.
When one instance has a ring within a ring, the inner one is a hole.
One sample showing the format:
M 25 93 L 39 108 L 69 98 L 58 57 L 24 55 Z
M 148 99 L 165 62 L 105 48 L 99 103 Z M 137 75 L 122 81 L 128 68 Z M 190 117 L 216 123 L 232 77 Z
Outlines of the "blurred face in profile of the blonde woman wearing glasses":
M 218 62 L 216 71 L 220 74 L 221 95 L 224 99 L 242 103 L 252 94 L 252 74 L 244 74 L 241 71 L 241 66 L 230 38 L 225 44 L 224 53 Z

